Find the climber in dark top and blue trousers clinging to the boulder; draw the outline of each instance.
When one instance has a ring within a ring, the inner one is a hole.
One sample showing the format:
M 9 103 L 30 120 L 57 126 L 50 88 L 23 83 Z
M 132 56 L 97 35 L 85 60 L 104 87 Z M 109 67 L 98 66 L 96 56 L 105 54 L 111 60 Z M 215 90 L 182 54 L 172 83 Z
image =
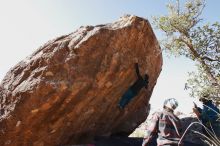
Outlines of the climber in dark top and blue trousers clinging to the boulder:
M 145 87 L 147 89 L 149 76 L 147 74 L 142 77 L 139 72 L 138 63 L 135 63 L 135 70 L 137 74 L 137 80 L 128 88 L 128 90 L 122 95 L 119 101 L 119 108 L 123 109 L 131 99 L 138 95 L 140 90 Z

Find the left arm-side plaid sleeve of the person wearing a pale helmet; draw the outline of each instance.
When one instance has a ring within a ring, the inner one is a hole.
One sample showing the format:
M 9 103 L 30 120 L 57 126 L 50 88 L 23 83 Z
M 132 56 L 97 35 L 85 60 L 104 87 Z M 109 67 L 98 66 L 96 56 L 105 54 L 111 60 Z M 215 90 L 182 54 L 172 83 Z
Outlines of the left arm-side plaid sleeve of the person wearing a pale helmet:
M 147 127 L 146 135 L 144 136 L 142 146 L 148 146 L 152 138 L 157 134 L 158 122 L 159 122 L 159 117 L 157 114 L 154 114 L 152 119 L 150 120 L 149 126 Z

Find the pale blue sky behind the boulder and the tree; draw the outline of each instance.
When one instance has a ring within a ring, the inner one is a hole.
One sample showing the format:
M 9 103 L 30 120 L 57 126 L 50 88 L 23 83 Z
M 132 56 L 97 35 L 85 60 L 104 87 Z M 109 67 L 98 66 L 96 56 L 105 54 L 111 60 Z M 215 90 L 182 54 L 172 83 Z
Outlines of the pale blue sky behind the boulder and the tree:
M 167 13 L 168 0 L 0 0 L 0 80 L 19 61 L 50 39 L 73 32 L 82 25 L 96 25 L 117 20 L 124 14 L 149 19 Z M 181 0 L 181 3 L 184 2 Z M 219 0 L 209 0 L 204 22 L 219 21 Z M 161 34 L 154 29 L 158 39 Z M 162 106 L 165 98 L 180 101 L 180 110 L 189 111 L 192 102 L 183 90 L 187 72 L 194 64 L 164 55 L 164 65 L 151 103 Z M 188 105 L 187 108 L 185 105 Z

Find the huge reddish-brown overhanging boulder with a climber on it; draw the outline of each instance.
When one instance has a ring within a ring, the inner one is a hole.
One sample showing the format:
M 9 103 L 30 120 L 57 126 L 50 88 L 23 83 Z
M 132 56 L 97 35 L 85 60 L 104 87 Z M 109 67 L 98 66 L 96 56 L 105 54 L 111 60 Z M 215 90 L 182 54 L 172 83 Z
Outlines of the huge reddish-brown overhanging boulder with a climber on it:
M 120 110 L 121 96 L 136 80 L 136 59 L 149 86 Z M 152 28 L 136 16 L 49 41 L 1 82 L 0 145 L 56 146 L 130 133 L 147 116 L 161 67 Z

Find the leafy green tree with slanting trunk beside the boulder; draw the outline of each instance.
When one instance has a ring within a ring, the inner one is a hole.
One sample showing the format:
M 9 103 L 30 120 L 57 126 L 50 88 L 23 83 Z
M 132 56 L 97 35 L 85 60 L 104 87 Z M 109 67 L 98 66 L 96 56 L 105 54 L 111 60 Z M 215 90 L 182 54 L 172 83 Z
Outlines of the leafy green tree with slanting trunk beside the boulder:
M 205 0 L 179 0 L 167 5 L 168 14 L 154 17 L 154 25 L 164 34 L 161 46 L 176 56 L 196 62 L 198 71 L 189 73 L 187 89 L 191 96 L 220 97 L 220 24 L 202 23 Z

